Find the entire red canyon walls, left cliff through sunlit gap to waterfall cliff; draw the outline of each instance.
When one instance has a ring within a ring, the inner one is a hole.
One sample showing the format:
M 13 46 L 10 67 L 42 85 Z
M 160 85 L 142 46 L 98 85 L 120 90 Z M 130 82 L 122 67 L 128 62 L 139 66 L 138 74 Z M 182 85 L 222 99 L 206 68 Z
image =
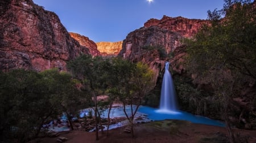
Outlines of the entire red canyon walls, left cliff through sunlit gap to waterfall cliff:
M 155 73 L 157 84 L 166 60 L 176 74 L 185 74 L 182 64 L 186 55 L 184 38 L 192 38 L 203 25 L 209 24 L 208 20 L 164 15 L 162 19 L 146 21 L 123 41 L 95 43 L 86 36 L 68 32 L 54 12 L 44 10 L 32 0 L 0 1 L 0 71 L 16 68 L 63 71 L 67 70 L 68 60 L 80 54 L 119 56 L 148 64 Z M 255 89 L 248 90 L 255 94 Z M 251 111 L 242 106 L 249 104 L 249 98 L 237 98 L 239 111 Z M 234 120 L 240 122 L 240 119 Z

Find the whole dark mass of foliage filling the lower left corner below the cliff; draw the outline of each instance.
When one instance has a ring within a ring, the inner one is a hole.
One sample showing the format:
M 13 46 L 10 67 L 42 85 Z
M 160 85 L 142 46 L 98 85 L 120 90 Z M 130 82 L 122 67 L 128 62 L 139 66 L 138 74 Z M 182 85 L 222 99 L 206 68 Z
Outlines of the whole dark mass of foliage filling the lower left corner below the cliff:
M 72 101 L 66 97 L 76 98 L 71 76 L 57 70 L 43 73 L 13 70 L 1 72 L 0 76 L 2 141 L 31 140 L 43 124 L 64 111 L 60 105 Z

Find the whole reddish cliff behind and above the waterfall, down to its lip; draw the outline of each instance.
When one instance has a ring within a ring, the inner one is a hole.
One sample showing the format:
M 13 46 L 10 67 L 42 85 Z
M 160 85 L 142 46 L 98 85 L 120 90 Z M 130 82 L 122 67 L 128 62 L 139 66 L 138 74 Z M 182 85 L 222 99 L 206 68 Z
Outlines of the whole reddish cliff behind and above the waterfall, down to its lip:
M 183 67 L 174 62 L 181 62 L 184 53 L 175 52 L 177 47 L 182 46 L 183 39 L 191 38 L 204 25 L 209 24 L 207 20 L 187 19 L 182 17 L 171 18 L 163 16 L 162 19 L 150 19 L 144 23 L 144 27 L 129 33 L 123 40 L 122 50 L 119 56 L 132 61 L 143 61 L 150 65 L 156 73 L 155 83 L 160 71 L 163 71 L 164 62 L 167 57 L 161 58 L 158 51 L 152 51 L 155 56 L 148 54 L 147 46 L 160 47 L 167 54 L 179 53 L 179 58 L 170 60 L 175 71 L 182 72 Z M 146 51 L 147 52 L 146 52 Z M 179 51 L 179 50 L 178 50 Z M 156 56 L 157 55 L 157 56 Z

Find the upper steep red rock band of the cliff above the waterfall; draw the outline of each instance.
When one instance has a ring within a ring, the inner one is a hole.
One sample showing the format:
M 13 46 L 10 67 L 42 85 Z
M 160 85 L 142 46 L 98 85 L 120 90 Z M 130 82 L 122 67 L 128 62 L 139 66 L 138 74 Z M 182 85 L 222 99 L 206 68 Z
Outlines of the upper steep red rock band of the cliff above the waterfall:
M 165 15 L 160 20 L 150 19 L 144 23 L 144 27 L 127 35 L 119 55 L 131 58 L 131 54 L 137 53 L 141 47 L 148 45 L 162 46 L 167 53 L 170 53 L 182 45 L 184 37 L 193 37 L 204 24 L 209 24 L 209 21 L 171 18 Z

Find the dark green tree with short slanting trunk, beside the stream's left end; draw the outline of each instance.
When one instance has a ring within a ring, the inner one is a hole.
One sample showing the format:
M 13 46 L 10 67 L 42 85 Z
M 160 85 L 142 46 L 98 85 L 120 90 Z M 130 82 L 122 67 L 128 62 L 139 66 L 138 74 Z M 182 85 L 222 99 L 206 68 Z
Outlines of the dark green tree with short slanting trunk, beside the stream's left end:
M 50 101 L 59 115 L 63 112 L 67 115 L 71 129 L 73 130 L 72 117 L 81 109 L 81 102 L 86 102 L 81 97 L 81 92 L 76 88 L 72 76 L 67 72 L 59 72 L 56 68 L 39 73 L 43 81 L 51 91 Z

